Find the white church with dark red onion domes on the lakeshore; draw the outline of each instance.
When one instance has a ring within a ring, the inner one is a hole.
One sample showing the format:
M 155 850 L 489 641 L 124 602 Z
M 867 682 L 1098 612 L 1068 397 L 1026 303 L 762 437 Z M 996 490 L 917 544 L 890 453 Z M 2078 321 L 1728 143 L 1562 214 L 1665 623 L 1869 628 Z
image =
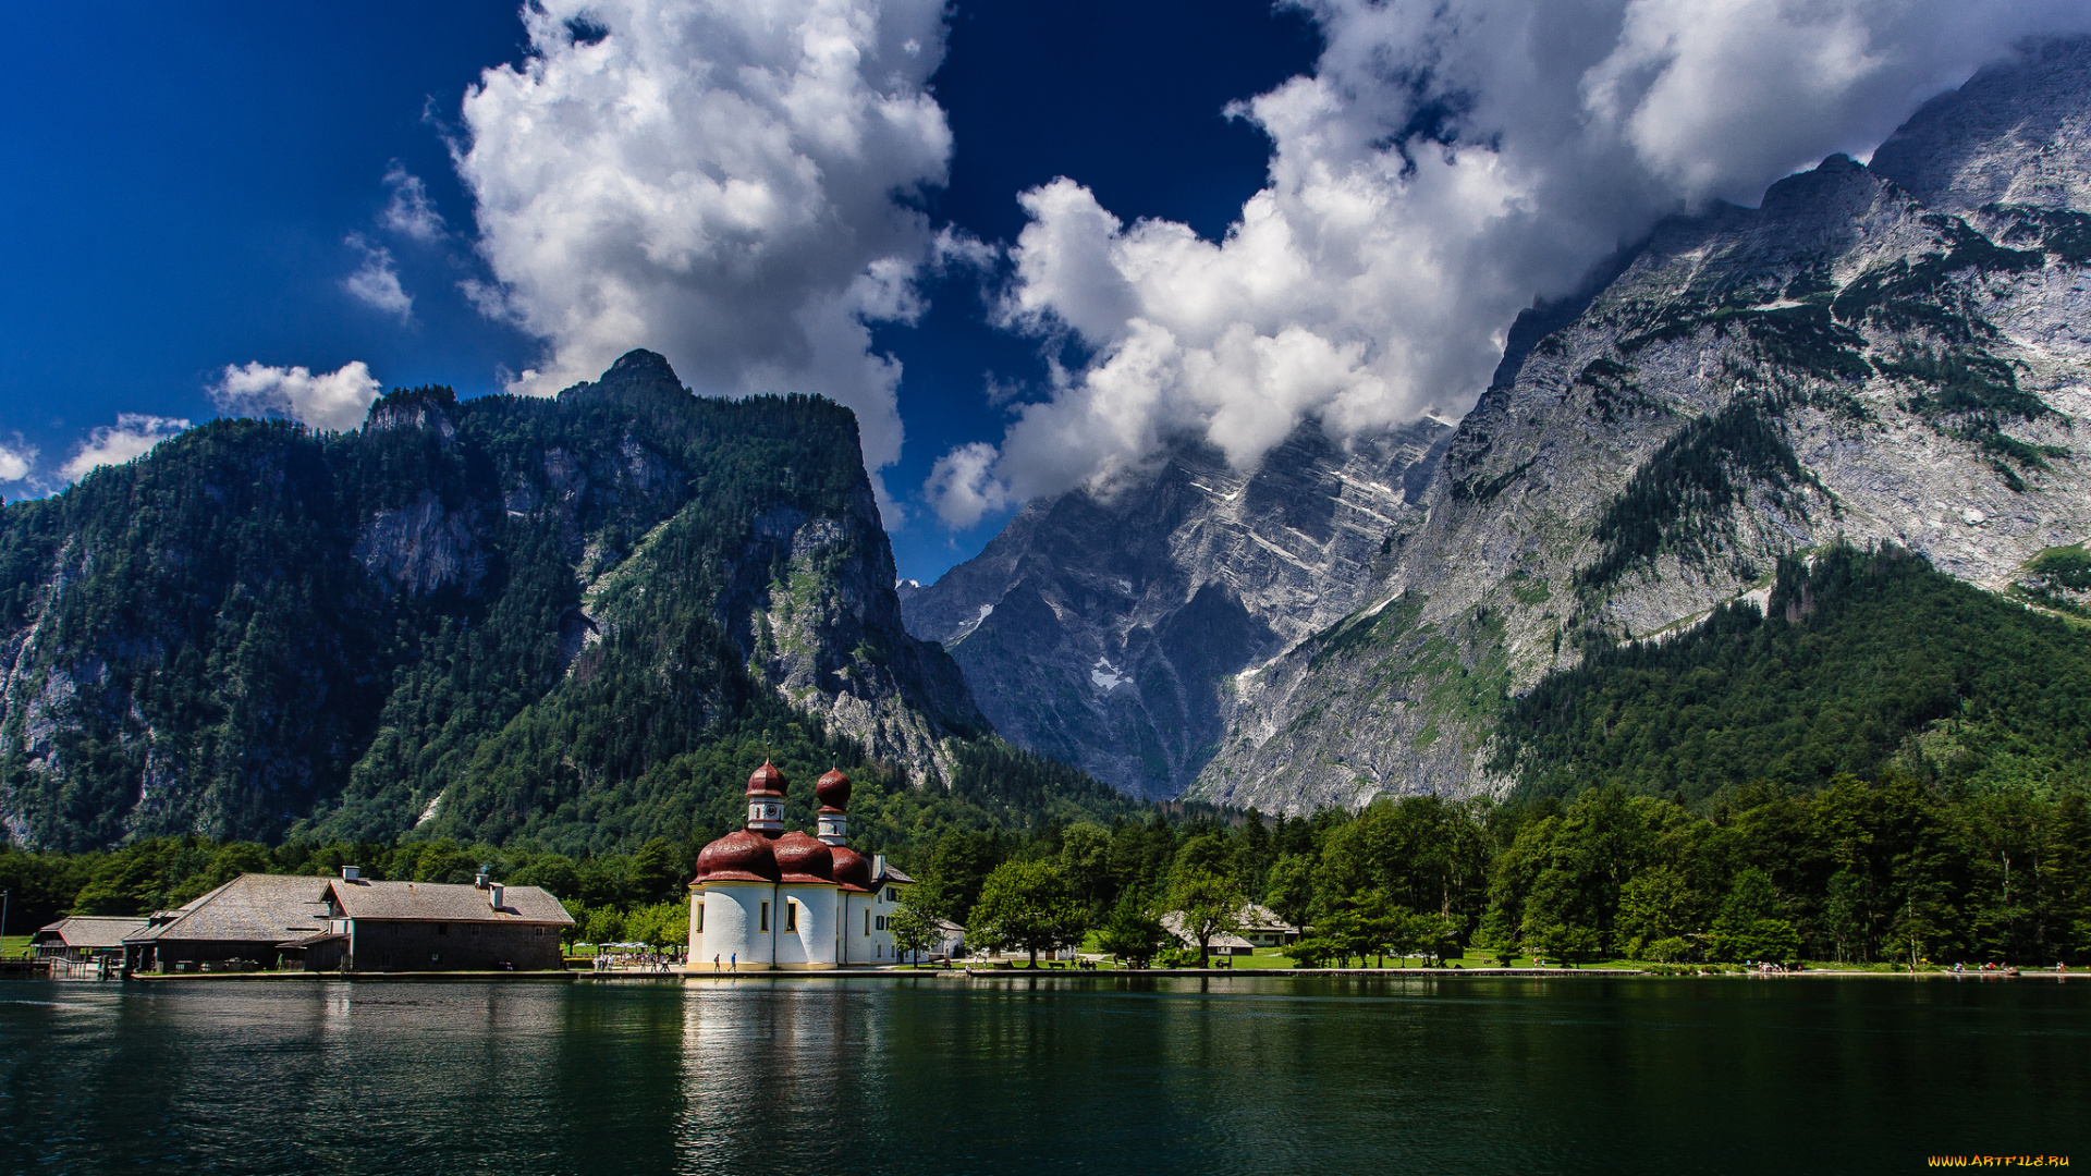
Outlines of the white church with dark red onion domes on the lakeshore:
M 784 772 L 749 776 L 749 822 L 696 856 L 690 971 L 807 971 L 897 963 L 887 917 L 914 879 L 849 847 L 849 776 L 813 785 L 818 837 L 784 831 Z

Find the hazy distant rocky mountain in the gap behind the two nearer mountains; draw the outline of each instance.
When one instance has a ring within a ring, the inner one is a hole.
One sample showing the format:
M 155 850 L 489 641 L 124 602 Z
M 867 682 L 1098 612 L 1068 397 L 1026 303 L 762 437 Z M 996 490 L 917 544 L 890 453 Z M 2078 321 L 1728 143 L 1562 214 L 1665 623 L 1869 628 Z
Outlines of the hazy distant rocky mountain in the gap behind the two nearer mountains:
M 1236 676 L 1351 613 L 1416 511 L 1420 421 L 1345 450 L 1303 425 L 1255 473 L 1181 446 L 1117 496 L 1033 502 L 930 588 L 910 632 L 951 653 L 1004 739 L 1144 797 L 1184 793 Z

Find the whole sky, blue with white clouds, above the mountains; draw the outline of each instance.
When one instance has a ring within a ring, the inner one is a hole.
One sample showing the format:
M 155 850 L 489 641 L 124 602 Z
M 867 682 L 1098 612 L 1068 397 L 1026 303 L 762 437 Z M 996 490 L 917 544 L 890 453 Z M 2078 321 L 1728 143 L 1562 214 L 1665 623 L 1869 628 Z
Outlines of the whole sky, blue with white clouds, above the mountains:
M 1457 419 L 1533 297 L 2081 0 L 23 8 L 0 494 L 627 347 L 857 410 L 901 575 L 1169 446 Z

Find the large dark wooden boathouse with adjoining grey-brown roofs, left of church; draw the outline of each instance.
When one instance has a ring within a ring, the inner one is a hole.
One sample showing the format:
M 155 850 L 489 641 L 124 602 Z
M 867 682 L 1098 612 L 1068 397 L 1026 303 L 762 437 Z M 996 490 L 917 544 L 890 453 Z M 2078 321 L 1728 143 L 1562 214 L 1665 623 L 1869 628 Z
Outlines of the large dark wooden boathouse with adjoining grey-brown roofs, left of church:
M 130 971 L 565 967 L 573 917 L 533 885 L 240 875 L 123 937 Z

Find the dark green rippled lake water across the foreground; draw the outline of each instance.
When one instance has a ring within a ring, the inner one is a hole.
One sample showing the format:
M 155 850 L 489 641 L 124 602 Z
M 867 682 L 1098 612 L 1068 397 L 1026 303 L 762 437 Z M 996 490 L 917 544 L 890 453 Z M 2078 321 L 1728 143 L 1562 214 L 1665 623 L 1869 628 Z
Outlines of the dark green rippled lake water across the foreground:
M 0 981 L 4 1172 L 2091 1168 L 2055 979 Z

